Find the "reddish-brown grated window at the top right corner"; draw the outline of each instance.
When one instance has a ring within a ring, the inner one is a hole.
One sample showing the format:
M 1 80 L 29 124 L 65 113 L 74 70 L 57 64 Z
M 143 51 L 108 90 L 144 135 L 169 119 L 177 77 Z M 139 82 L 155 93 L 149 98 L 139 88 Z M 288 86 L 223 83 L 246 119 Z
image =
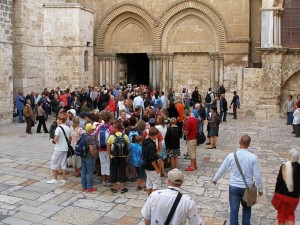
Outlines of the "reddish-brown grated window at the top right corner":
M 300 0 L 285 0 L 281 21 L 283 47 L 300 48 Z

